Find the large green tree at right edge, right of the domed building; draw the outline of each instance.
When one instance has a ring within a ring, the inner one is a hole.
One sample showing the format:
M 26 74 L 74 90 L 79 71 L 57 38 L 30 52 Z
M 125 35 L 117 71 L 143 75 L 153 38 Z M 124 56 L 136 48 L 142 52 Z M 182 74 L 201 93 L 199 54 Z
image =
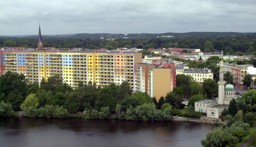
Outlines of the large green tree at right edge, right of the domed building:
M 256 113 L 256 90 L 249 90 L 236 99 L 237 107 L 243 113 Z

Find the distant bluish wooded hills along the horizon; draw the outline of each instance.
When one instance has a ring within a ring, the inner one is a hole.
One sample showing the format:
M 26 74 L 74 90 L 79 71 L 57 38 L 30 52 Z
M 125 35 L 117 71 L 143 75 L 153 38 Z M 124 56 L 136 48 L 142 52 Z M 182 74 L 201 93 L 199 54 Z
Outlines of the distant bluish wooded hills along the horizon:
M 238 32 L 187 32 L 187 33 L 141 33 L 141 34 L 128 34 L 130 38 L 149 38 L 157 36 L 173 36 L 173 37 L 218 37 L 218 36 L 238 36 L 244 34 L 254 33 L 238 33 Z M 124 34 L 111 34 L 111 33 L 79 33 L 79 34 L 56 34 L 56 35 L 42 35 L 43 38 L 122 38 Z M 37 38 L 37 35 L 14 35 L 14 36 L 1 36 L 0 37 L 13 37 L 13 38 Z

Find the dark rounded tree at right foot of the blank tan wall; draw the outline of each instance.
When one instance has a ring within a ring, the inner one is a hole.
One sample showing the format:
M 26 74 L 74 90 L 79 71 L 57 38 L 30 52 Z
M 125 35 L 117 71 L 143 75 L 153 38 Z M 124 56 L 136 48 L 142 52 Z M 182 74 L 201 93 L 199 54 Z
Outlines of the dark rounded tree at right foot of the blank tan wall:
M 165 103 L 171 104 L 176 109 L 181 109 L 184 107 L 182 104 L 182 101 L 183 101 L 183 98 L 177 95 L 175 92 L 167 93 L 164 100 Z

